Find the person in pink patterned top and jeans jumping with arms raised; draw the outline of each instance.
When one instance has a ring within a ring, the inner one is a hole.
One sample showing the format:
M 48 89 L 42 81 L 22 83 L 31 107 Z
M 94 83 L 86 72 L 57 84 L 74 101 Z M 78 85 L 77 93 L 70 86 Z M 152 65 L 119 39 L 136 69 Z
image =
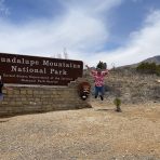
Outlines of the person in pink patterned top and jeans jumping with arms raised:
M 86 65 L 89 69 L 89 66 Z M 101 99 L 104 99 L 104 79 L 105 76 L 108 76 L 108 69 L 102 70 L 101 68 L 91 70 L 91 76 L 94 78 L 95 82 L 95 98 L 97 98 L 98 94 Z

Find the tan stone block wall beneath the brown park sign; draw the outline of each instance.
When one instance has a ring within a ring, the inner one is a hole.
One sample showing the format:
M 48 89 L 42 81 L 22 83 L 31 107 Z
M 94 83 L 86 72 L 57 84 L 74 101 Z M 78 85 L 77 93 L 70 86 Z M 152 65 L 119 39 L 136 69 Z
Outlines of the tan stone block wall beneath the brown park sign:
M 77 85 L 85 79 L 78 79 L 68 86 L 11 86 L 3 89 L 4 98 L 0 102 L 0 116 L 45 112 L 53 110 L 80 109 L 91 107 L 82 101 Z

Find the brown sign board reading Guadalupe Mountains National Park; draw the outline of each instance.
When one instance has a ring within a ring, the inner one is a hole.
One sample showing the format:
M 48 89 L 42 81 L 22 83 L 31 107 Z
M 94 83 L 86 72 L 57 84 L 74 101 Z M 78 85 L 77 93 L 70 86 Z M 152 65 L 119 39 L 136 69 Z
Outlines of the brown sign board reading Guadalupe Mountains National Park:
M 3 83 L 67 85 L 82 77 L 81 61 L 0 53 Z

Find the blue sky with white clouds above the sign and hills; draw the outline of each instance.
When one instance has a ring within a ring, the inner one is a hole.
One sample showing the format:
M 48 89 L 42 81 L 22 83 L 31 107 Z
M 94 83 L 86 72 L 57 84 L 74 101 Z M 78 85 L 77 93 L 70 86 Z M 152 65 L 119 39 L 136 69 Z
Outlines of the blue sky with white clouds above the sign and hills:
M 160 0 L 0 0 L 0 52 L 129 65 L 160 55 Z

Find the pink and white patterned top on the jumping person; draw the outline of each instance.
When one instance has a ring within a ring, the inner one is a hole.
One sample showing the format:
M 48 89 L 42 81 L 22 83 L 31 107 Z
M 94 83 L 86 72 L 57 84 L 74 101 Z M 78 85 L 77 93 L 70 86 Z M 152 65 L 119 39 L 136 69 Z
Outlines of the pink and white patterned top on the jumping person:
M 103 86 L 104 85 L 104 78 L 106 75 L 109 74 L 109 71 L 106 69 L 106 70 L 102 71 L 101 74 L 97 74 L 97 71 L 92 70 L 91 74 L 92 74 L 92 77 L 94 78 L 95 86 Z

